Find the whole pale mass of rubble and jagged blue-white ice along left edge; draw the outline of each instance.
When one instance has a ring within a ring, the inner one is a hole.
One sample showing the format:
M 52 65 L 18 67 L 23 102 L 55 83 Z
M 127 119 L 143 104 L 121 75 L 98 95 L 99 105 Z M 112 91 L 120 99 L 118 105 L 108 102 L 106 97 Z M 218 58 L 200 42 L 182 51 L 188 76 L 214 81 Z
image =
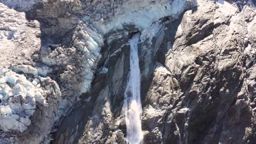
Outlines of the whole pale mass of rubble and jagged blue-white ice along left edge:
M 0 9 L 0 143 L 43 141 L 61 92 L 31 58 L 40 49 L 39 22 L 26 20 L 25 13 L 2 3 Z

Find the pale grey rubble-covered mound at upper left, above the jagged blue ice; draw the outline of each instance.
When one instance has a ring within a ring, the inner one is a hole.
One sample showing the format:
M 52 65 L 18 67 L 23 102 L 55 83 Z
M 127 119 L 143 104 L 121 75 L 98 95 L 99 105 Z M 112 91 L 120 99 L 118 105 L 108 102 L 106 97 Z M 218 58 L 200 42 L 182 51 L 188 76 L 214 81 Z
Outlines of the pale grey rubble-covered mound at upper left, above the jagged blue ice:
M 0 64 L 7 66 L 19 61 L 33 63 L 32 52 L 40 49 L 38 21 L 27 21 L 24 13 L 18 13 L 0 3 Z

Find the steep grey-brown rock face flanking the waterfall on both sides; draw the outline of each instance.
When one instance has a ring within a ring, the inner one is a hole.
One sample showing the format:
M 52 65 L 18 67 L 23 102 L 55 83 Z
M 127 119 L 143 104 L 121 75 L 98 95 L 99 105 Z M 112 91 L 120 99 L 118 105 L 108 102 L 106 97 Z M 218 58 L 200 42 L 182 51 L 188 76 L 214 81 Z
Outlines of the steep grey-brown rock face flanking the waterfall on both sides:
M 254 143 L 255 36 L 242 17 L 255 12 L 245 6 L 237 13 L 226 2 L 197 3 L 178 19 L 161 21 L 152 41 L 141 36 L 143 142 Z M 96 74 L 85 94 L 95 99 L 79 143 L 125 143 L 129 38 L 105 46 L 108 71 Z

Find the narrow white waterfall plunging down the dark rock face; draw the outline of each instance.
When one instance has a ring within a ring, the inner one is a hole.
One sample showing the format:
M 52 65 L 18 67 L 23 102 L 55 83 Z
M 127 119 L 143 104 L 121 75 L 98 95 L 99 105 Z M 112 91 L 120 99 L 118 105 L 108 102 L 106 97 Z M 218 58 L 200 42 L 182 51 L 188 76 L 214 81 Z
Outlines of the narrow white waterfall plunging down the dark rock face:
M 125 121 L 126 141 L 129 144 L 139 144 L 143 139 L 141 128 L 141 71 L 139 70 L 138 58 L 139 34 L 130 40 L 130 73 L 125 89 Z

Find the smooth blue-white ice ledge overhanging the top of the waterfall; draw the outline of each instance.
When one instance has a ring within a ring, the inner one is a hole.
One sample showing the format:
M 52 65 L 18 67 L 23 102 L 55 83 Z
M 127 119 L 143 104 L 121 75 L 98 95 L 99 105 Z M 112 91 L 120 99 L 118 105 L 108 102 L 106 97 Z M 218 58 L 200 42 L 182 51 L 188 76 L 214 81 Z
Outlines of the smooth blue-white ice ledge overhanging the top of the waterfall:
M 175 1 L 125 1 L 113 8 L 110 18 L 104 15 L 109 14 L 90 14 L 85 16 L 85 21 L 92 21 L 98 27 L 98 30 L 105 34 L 114 29 L 122 29 L 123 25 L 134 25 L 140 31 L 152 25 L 154 21 L 158 21 L 165 16 L 174 16 L 182 13 L 186 0 Z M 96 15 L 96 16 L 95 16 Z M 107 18 L 108 17 L 108 18 Z

